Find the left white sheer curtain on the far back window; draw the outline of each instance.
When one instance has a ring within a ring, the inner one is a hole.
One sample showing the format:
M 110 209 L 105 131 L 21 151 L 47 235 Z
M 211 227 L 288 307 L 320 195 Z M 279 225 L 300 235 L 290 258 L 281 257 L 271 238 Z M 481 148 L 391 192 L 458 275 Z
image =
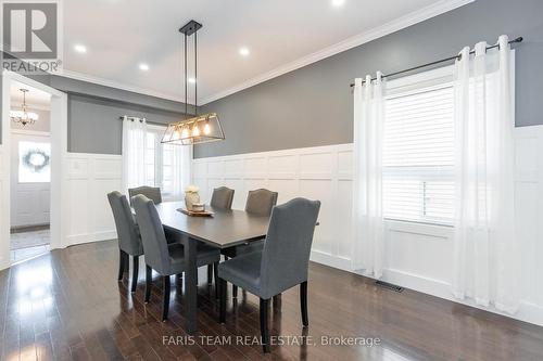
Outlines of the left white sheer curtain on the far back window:
M 146 119 L 123 118 L 123 191 L 146 184 Z

